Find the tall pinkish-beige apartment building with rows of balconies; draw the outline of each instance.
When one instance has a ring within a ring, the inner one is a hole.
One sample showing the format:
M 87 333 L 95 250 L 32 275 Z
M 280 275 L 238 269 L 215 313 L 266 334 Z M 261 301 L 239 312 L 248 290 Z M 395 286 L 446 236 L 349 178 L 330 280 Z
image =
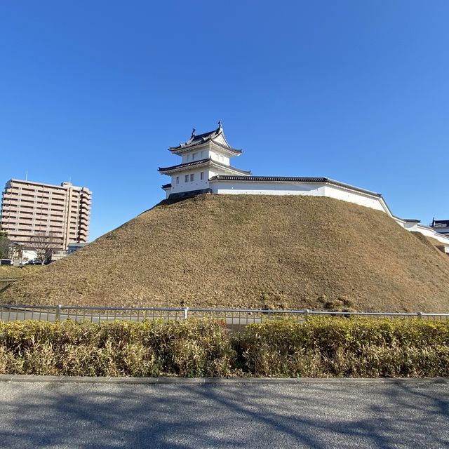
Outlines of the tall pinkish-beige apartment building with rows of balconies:
M 1 197 L 1 229 L 25 249 L 38 235 L 51 236 L 55 250 L 88 240 L 92 192 L 70 182 L 60 186 L 10 180 Z

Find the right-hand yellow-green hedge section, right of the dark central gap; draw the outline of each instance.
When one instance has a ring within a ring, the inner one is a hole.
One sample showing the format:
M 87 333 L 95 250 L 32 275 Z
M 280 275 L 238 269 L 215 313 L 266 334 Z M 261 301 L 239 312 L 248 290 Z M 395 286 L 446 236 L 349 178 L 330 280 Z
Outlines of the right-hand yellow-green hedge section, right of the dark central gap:
M 449 323 L 283 319 L 248 326 L 241 342 L 246 369 L 258 376 L 449 375 Z

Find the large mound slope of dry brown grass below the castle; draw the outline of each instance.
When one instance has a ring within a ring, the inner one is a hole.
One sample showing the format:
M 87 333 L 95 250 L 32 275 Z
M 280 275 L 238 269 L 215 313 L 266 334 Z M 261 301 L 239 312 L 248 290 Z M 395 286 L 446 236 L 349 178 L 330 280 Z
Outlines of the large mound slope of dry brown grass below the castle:
M 449 257 L 387 215 L 305 196 L 162 202 L 1 302 L 448 311 Z

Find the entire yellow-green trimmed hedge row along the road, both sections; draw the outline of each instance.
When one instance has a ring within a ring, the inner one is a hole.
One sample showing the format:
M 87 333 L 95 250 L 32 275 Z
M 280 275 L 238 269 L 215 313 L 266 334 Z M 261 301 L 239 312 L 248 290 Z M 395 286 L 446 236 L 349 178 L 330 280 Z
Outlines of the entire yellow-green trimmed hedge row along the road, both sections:
M 0 323 L 0 373 L 182 377 L 448 377 L 449 323 L 220 321 Z

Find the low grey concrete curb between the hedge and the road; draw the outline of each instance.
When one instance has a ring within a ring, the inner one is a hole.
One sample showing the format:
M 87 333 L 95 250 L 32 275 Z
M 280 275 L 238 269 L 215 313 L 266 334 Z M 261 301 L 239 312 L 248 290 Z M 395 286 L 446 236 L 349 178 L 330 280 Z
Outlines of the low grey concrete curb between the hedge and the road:
M 47 382 L 58 384 L 449 384 L 446 377 L 88 377 L 1 374 L 0 382 Z

